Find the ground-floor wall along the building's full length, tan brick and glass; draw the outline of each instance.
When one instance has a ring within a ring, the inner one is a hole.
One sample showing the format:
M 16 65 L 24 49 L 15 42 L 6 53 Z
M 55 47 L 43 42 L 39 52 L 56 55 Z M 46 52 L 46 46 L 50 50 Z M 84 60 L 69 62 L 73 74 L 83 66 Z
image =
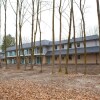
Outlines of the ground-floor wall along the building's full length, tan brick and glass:
M 84 54 L 78 54 L 77 59 L 75 59 L 75 55 L 69 55 L 68 64 L 75 64 L 75 60 L 77 64 L 84 64 Z M 20 58 L 21 64 L 31 64 L 31 56 L 27 56 L 25 58 Z M 15 57 L 7 58 L 8 64 L 16 64 L 17 60 Z M 55 64 L 59 64 L 59 56 L 55 56 Z M 34 64 L 52 64 L 52 56 L 35 56 L 33 59 Z M 100 63 L 100 56 L 99 54 L 87 54 L 86 55 L 86 63 L 87 64 L 99 64 Z M 61 56 L 61 64 L 66 64 L 66 55 Z

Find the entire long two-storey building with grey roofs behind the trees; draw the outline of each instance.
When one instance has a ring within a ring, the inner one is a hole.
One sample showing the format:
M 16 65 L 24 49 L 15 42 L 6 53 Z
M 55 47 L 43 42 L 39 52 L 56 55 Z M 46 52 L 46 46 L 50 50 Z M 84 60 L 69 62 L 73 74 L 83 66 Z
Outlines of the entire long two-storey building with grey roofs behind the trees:
M 61 49 L 61 63 L 66 64 L 66 51 L 67 51 L 67 40 L 62 40 Z M 76 38 L 77 46 L 77 63 L 84 64 L 84 45 L 83 38 Z M 31 43 L 23 44 L 24 55 L 21 53 L 21 63 L 25 64 L 27 58 L 28 63 L 31 63 Z M 19 52 L 19 51 L 18 51 Z M 99 37 L 98 35 L 92 35 L 86 37 L 86 52 L 87 52 L 87 64 L 98 64 L 100 63 L 99 57 Z M 36 42 L 36 48 L 34 50 L 34 63 L 40 64 L 40 42 Z M 42 64 L 52 64 L 52 42 L 48 40 L 42 40 Z M 4 60 L 4 57 L 1 58 Z M 16 46 L 7 48 L 7 63 L 16 63 Z M 74 40 L 70 40 L 69 47 L 69 64 L 75 64 L 75 50 Z M 59 41 L 55 41 L 55 64 L 59 64 Z

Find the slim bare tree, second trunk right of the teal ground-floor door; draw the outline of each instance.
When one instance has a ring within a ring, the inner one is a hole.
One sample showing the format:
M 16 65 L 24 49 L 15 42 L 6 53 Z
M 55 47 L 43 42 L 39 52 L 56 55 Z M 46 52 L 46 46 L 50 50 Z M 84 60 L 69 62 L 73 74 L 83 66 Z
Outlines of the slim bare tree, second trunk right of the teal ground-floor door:
M 61 9 L 61 5 L 62 5 L 62 0 L 60 0 L 60 5 L 59 5 L 59 15 L 60 15 L 60 34 L 59 34 L 59 72 L 62 71 L 61 68 L 61 34 L 62 34 L 62 9 Z

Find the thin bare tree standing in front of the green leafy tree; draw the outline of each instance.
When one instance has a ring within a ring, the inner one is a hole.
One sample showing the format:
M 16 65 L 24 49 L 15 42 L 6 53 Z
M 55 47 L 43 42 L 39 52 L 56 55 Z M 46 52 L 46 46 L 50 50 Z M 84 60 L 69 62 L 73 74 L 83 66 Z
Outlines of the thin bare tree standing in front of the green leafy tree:
M 5 22 L 4 22 L 4 31 L 5 31 L 5 62 L 7 68 L 7 52 L 6 52 L 6 26 L 7 26 L 7 0 L 3 0 L 4 11 L 5 11 Z

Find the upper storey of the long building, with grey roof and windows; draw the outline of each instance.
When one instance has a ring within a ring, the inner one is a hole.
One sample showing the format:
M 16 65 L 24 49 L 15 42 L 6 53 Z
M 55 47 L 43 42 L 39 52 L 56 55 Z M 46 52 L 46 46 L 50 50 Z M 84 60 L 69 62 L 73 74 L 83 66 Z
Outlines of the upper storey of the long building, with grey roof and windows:
M 52 51 L 52 42 L 48 40 L 42 40 L 41 42 L 42 48 L 41 48 L 41 54 L 45 55 L 47 51 Z M 99 38 L 97 35 L 93 36 L 87 36 L 86 37 L 86 47 L 93 47 L 93 46 L 99 46 Z M 55 41 L 55 50 L 59 50 L 59 41 Z M 77 48 L 83 48 L 83 39 L 76 38 L 76 47 Z M 31 55 L 31 43 L 23 44 L 24 48 L 24 55 Z M 61 41 L 61 48 L 67 49 L 67 40 Z M 69 48 L 74 48 L 74 39 L 70 40 Z M 16 56 L 16 46 L 7 48 L 7 56 Z M 19 51 L 18 51 L 19 54 Z M 20 51 L 20 55 L 23 55 L 23 53 Z M 40 55 L 40 42 L 36 42 L 36 48 L 34 49 L 34 55 Z

